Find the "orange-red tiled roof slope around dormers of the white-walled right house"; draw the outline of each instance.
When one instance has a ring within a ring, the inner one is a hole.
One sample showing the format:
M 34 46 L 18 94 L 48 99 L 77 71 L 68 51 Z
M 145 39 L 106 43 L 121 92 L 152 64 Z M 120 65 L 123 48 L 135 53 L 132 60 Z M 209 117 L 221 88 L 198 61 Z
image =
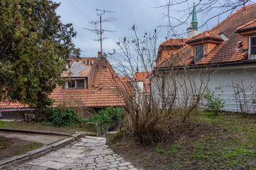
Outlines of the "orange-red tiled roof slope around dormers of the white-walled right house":
M 245 60 L 247 52 L 244 52 L 242 47 L 238 47 L 238 43 L 242 41 L 242 36 L 235 33 L 235 31 L 240 26 L 244 26 L 242 28 L 255 26 L 255 13 L 256 4 L 242 7 L 209 31 L 189 39 L 188 42 L 195 38 L 203 38 L 206 36 L 206 33 L 209 33 L 210 36 L 215 38 L 220 38 L 219 35 L 223 33 L 228 38 L 228 40 L 218 43 L 213 50 L 211 50 L 210 53 L 203 57 L 197 64 L 219 64 Z M 169 57 L 169 59 L 157 65 L 156 68 L 169 67 L 170 64 L 175 64 L 175 66 L 181 64 L 193 64 L 193 56 L 191 56 L 190 48 L 190 45 L 183 47 L 183 49 L 176 52 L 174 56 Z

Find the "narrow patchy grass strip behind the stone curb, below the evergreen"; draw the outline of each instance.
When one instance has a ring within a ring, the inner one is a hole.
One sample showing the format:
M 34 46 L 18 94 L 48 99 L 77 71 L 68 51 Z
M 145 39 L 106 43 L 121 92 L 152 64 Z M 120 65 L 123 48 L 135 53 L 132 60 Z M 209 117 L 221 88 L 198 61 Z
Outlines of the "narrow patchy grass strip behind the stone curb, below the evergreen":
M 65 132 L 73 134 L 75 132 L 90 132 L 85 128 L 80 128 L 78 125 L 73 125 L 72 127 L 55 127 L 52 125 L 43 125 L 42 123 L 27 123 L 20 121 L 6 122 L 0 120 L 0 128 L 13 128 L 21 130 L 38 130 L 38 131 L 50 131 L 50 132 Z

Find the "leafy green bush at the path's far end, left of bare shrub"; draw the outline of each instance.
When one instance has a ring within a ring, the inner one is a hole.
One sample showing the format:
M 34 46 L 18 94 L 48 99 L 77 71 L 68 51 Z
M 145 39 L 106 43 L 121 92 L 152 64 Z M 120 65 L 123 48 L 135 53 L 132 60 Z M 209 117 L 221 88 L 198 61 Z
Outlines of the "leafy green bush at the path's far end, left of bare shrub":
M 95 112 L 95 111 L 94 111 Z M 102 125 L 102 127 L 108 127 L 111 123 L 117 125 L 121 123 L 122 120 L 122 110 L 121 108 L 109 107 L 100 110 L 95 113 L 94 116 L 88 118 L 86 121 L 91 124 Z

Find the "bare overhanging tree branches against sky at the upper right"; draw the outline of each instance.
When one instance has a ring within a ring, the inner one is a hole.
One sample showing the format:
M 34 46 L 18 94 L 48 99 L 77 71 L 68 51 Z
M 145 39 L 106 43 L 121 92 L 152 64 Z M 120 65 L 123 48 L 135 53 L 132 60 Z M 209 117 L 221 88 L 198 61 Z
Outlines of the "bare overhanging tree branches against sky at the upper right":
M 192 1 L 183 0 L 166 0 L 166 3 L 162 6 L 157 6 L 156 8 L 163 9 L 163 17 L 168 19 L 166 25 L 160 27 L 166 28 L 168 30 L 168 35 L 166 38 L 180 38 L 186 34 L 186 32 L 178 32 L 178 28 L 184 26 L 184 24 L 190 24 L 191 16 L 193 11 Z M 213 20 L 217 20 L 218 23 L 224 18 L 230 16 L 232 13 L 237 11 L 243 6 L 254 4 L 255 1 L 252 0 L 201 0 L 196 2 L 197 13 L 207 14 L 204 17 L 204 22 L 199 23 L 198 28 L 207 28 L 208 23 Z M 174 15 L 175 13 L 175 15 Z M 210 15 L 209 15 L 210 13 Z M 215 21 L 214 21 L 215 22 Z

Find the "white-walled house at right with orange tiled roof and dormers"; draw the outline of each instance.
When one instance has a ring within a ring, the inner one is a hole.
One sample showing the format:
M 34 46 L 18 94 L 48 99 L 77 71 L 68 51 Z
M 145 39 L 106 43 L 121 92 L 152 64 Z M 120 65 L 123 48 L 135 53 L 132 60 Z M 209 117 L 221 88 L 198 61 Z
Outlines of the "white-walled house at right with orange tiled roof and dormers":
M 171 68 L 177 70 L 177 77 L 184 67 L 205 75 L 210 73 L 208 88 L 225 101 L 224 110 L 255 112 L 256 4 L 240 8 L 203 33 L 196 30 L 195 10 L 194 7 L 194 19 L 187 30 L 188 35 L 194 30 L 193 36 L 161 43 L 154 74 L 161 75 L 164 86 L 169 81 L 166 72 Z M 168 89 L 164 90 L 169 93 Z

